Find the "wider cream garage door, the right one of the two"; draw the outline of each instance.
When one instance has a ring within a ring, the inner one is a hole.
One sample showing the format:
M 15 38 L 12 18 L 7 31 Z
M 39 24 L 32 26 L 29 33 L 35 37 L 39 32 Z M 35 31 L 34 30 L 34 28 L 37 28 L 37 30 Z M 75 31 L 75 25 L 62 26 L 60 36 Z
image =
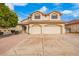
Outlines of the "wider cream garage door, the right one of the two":
M 42 28 L 43 34 L 60 34 L 61 33 L 61 27 L 56 25 L 47 25 Z

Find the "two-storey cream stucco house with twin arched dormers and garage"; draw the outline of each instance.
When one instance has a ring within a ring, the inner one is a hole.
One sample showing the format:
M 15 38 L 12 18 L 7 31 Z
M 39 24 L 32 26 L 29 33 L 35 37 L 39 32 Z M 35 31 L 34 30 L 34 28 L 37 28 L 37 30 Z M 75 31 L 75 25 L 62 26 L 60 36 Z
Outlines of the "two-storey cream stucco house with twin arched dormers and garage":
M 19 25 L 26 27 L 25 31 L 28 34 L 64 34 L 65 25 L 61 21 L 61 15 L 58 11 L 49 14 L 36 11 L 21 21 Z

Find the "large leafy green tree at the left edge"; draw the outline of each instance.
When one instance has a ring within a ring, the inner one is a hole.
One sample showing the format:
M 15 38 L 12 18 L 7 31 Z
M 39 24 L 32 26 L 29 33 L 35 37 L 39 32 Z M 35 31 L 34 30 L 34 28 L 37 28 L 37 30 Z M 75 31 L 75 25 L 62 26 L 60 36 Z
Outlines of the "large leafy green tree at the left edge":
M 15 27 L 18 17 L 15 12 L 10 10 L 4 3 L 0 3 L 0 27 Z

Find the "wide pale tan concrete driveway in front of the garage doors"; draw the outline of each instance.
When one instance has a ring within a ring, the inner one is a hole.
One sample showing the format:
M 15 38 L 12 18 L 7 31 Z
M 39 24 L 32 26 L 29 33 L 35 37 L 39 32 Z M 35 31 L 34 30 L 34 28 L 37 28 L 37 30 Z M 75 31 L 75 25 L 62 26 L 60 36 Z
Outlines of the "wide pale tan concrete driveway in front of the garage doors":
M 16 55 L 16 56 L 17 55 L 25 55 L 25 56 L 78 55 L 79 56 L 79 35 L 76 34 L 63 34 L 63 35 L 21 34 L 17 36 L 16 40 L 20 40 L 19 42 L 17 42 L 18 44 L 15 44 L 13 48 L 9 49 L 2 55 Z M 0 46 L 0 48 L 2 47 Z

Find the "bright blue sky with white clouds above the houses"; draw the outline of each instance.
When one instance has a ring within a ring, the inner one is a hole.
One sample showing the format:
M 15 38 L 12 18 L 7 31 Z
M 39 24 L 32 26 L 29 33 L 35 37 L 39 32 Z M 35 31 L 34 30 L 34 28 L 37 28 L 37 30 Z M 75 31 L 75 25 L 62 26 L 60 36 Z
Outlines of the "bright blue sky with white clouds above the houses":
M 78 3 L 6 3 L 6 5 L 16 12 L 19 21 L 26 19 L 31 13 L 39 10 L 45 14 L 52 11 L 62 13 L 61 20 L 70 21 L 79 19 Z

